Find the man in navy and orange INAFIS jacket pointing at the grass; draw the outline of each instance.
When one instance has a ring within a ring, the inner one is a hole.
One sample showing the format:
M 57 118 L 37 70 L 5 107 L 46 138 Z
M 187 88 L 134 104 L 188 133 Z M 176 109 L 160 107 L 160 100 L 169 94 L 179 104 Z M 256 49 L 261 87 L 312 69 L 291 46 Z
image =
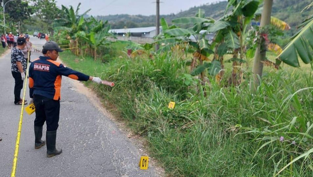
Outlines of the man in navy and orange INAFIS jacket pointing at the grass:
M 47 157 L 62 153 L 57 150 L 56 135 L 60 117 L 61 78 L 67 76 L 72 79 L 101 83 L 99 77 L 88 76 L 67 68 L 57 62 L 62 49 L 54 41 L 48 41 L 43 46 L 43 56 L 34 60 L 29 67 L 29 95 L 30 103 L 35 104 L 36 118 L 34 121 L 35 149 L 47 146 Z M 46 122 L 45 141 L 41 140 L 44 123 Z

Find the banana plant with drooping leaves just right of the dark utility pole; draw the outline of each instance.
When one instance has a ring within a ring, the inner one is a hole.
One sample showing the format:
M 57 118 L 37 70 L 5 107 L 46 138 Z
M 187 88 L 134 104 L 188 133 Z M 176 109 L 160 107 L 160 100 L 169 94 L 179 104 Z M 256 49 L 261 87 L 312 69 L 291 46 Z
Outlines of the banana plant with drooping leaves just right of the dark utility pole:
M 159 51 L 169 50 L 171 46 L 178 44 L 188 44 L 185 46 L 184 51 L 193 53 L 191 74 L 200 74 L 200 78 L 204 84 L 205 70 L 207 68 L 212 70 L 211 67 L 217 66 L 216 64 L 203 64 L 203 61 L 209 61 L 208 56 L 213 53 L 209 40 L 205 37 L 207 35 L 205 30 L 209 24 L 214 22 L 214 20 L 211 18 L 205 18 L 204 11 L 199 9 L 195 17 L 178 18 L 174 19 L 172 22 L 179 25 L 191 24 L 193 26 L 187 29 L 175 25 L 169 27 L 166 21 L 161 19 L 163 33 L 158 36 L 158 40 L 155 43 L 159 43 L 160 46 L 164 47 L 160 48 Z M 214 70 L 217 70 L 217 68 Z M 212 74 L 212 72 L 209 72 L 209 74 Z

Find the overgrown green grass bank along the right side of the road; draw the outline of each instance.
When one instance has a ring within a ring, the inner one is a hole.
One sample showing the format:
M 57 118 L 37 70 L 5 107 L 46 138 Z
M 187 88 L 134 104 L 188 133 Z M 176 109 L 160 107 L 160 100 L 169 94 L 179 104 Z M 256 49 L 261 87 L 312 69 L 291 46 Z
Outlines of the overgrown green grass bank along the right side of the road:
M 236 87 L 221 87 L 211 80 L 204 97 L 199 81 L 188 75 L 184 57 L 175 53 L 130 59 L 120 52 L 108 63 L 68 51 L 61 58 L 75 70 L 114 81 L 113 88 L 87 85 L 147 138 L 151 155 L 169 176 L 273 177 L 312 148 L 312 139 L 304 135 L 312 135 L 307 127 L 313 122 L 312 89 L 291 97 L 312 86 L 308 66 L 303 71 L 286 65 L 279 71 L 265 68 L 257 95 L 251 94 L 248 79 Z M 229 76 L 230 64 L 226 68 Z M 250 71 L 246 69 L 246 75 Z M 167 108 L 170 101 L 176 102 L 173 110 Z M 300 120 L 288 126 L 294 117 Z M 293 163 L 281 177 L 312 177 L 310 157 Z

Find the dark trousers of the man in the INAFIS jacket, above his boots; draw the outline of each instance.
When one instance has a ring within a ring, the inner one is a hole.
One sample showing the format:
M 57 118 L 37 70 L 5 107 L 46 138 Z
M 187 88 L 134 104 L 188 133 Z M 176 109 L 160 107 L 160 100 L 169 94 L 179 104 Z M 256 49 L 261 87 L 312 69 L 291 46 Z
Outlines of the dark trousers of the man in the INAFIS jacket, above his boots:
M 60 101 L 45 98 L 40 95 L 34 95 L 36 118 L 35 126 L 47 125 L 47 131 L 55 131 L 59 126 Z

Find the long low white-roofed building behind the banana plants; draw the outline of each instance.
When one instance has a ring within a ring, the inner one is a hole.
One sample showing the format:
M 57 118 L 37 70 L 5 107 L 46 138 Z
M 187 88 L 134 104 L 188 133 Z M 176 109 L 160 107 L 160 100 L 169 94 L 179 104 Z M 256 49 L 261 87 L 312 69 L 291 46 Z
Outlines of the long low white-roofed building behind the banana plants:
M 162 26 L 160 26 L 160 33 Z M 153 38 L 156 36 L 156 26 L 150 27 L 135 27 L 135 28 L 122 28 L 122 29 L 110 29 L 109 32 L 117 34 L 119 36 L 130 36 Z

